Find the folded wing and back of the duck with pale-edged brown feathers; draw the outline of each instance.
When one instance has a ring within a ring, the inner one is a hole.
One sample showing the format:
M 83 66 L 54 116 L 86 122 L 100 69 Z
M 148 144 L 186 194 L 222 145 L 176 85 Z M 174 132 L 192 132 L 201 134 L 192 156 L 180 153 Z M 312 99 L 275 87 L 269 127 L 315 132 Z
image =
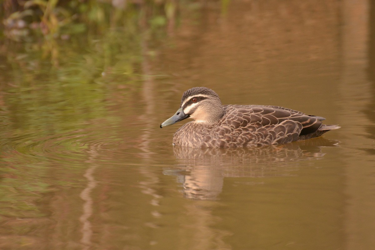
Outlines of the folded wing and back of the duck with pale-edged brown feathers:
M 219 127 L 230 127 L 232 143 L 241 146 L 282 144 L 322 135 L 325 118 L 280 106 L 224 105 Z M 227 131 L 228 132 L 228 131 Z M 229 138 L 226 138 L 228 140 Z

